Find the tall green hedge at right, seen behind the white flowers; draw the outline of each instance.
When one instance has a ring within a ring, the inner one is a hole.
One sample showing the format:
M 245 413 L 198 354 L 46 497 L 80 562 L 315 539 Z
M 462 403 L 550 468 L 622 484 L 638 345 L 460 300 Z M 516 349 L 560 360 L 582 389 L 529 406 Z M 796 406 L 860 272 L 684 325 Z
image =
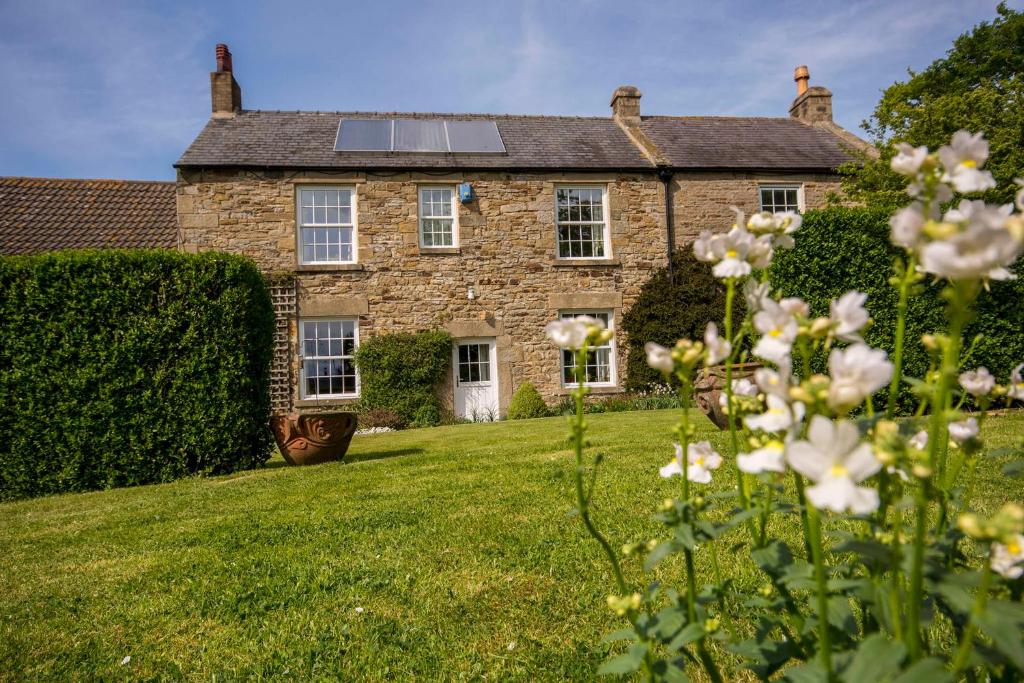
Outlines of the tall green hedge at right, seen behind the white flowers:
M 901 251 L 889 243 L 889 212 L 865 208 L 829 208 L 809 211 L 797 233 L 797 247 L 778 251 L 771 265 L 772 286 L 786 296 L 804 298 L 814 315 L 827 315 L 829 302 L 849 290 L 867 294 L 866 306 L 874 321 L 864 334 L 864 341 L 893 352 L 898 293 L 890 285 L 893 262 Z M 1015 270 L 1024 274 L 1021 262 Z M 928 370 L 928 353 L 921 337 L 945 329 L 941 287 L 927 283 L 920 296 L 909 300 L 904 374 L 922 377 Z M 976 305 L 977 315 L 968 326 L 965 338 L 970 345 L 976 335 L 978 344 L 966 365 L 985 366 L 999 380 L 1024 361 L 1024 280 L 993 282 L 990 291 L 982 292 Z M 823 358 L 817 369 L 823 370 Z M 913 397 L 904 387 L 900 398 L 906 411 Z

